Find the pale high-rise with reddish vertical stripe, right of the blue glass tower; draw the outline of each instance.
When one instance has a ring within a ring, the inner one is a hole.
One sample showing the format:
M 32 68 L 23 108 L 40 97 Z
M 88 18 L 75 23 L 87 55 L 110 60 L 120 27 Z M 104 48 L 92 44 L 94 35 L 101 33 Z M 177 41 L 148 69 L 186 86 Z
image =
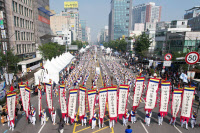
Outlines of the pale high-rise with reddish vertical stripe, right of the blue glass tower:
M 153 2 L 134 6 L 132 11 L 132 28 L 134 29 L 135 23 L 160 22 L 161 9 L 161 6 L 156 6 Z

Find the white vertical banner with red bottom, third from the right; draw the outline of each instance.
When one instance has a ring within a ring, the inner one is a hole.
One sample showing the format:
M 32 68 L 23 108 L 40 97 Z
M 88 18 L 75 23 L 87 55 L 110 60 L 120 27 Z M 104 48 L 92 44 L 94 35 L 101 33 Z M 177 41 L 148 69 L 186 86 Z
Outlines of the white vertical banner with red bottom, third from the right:
M 170 95 L 170 82 L 161 83 L 161 93 L 160 93 L 160 114 L 161 116 L 166 116 L 168 112 L 169 105 L 169 95 Z

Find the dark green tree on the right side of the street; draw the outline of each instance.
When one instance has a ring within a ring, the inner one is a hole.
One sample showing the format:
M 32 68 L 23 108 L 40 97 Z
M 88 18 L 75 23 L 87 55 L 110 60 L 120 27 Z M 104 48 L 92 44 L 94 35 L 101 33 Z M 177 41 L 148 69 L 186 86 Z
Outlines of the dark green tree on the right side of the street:
M 151 38 L 149 38 L 149 36 L 145 33 L 142 33 L 142 35 L 137 36 L 135 42 L 136 53 L 140 56 L 144 56 L 146 51 L 149 49 L 151 43 Z

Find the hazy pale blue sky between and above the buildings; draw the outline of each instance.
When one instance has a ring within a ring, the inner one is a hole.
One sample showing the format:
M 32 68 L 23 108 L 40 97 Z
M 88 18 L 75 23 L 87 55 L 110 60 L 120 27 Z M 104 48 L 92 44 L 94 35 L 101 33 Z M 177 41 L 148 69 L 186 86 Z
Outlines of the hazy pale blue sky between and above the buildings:
M 56 13 L 64 11 L 64 1 L 50 0 L 50 8 Z M 91 28 L 92 41 L 96 41 L 98 32 L 108 25 L 111 0 L 76 0 L 79 2 L 80 19 L 87 21 Z M 162 6 L 161 21 L 182 19 L 185 10 L 193 6 L 200 6 L 200 0 L 133 0 L 133 6 L 147 2 L 155 2 Z

